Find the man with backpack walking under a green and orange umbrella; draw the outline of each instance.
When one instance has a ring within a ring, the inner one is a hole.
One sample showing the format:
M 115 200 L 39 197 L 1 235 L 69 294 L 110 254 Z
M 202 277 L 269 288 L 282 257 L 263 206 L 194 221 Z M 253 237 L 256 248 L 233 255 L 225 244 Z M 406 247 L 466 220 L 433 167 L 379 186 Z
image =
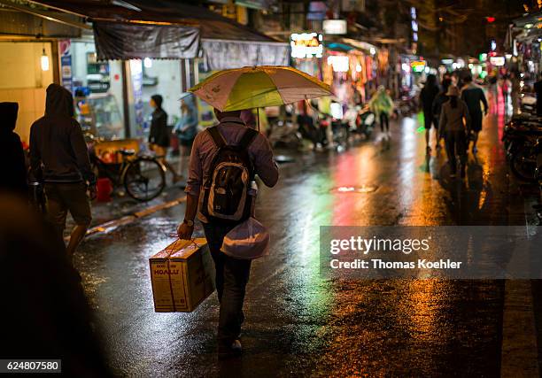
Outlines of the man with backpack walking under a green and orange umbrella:
M 329 96 L 330 91 L 326 84 L 291 67 L 259 66 L 215 73 L 190 92 L 213 105 L 220 123 L 197 134 L 192 145 L 186 212 L 177 235 L 190 239 L 197 215 L 216 271 L 221 305 L 218 352 L 228 355 L 242 351 L 239 335 L 252 261 L 232 258 L 221 251 L 221 246 L 228 232 L 253 214 L 252 201 L 246 202 L 246 197 L 238 194 L 250 196 L 248 189 L 256 174 L 268 187 L 275 186 L 279 177 L 267 138 L 247 127 L 241 111 Z M 218 181 L 217 177 L 228 180 Z

